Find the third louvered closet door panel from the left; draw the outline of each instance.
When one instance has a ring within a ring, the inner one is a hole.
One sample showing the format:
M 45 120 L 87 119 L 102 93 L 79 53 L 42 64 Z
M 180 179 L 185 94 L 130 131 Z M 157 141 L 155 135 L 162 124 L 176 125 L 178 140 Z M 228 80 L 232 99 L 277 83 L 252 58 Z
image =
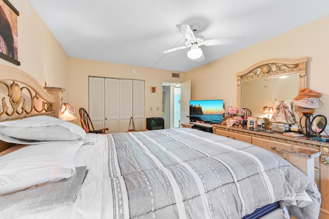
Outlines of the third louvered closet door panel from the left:
M 120 132 L 129 129 L 130 118 L 133 116 L 133 80 L 119 80 Z

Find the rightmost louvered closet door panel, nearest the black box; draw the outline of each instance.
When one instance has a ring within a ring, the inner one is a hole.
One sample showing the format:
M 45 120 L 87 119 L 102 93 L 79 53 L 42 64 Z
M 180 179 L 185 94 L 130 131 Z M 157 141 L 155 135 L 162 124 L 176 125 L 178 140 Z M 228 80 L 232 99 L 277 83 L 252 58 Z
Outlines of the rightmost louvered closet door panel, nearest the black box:
M 144 129 L 144 81 L 133 81 L 133 117 L 136 130 Z

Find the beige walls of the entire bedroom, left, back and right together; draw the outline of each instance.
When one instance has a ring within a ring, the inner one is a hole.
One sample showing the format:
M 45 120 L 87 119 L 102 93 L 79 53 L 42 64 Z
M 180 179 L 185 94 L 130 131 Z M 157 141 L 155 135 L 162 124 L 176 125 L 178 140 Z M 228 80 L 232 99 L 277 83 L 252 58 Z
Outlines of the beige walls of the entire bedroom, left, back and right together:
M 191 79 L 192 99 L 224 99 L 226 106 L 235 106 L 236 72 L 265 59 L 307 56 L 307 86 L 323 94 L 321 101 L 324 106 L 317 108 L 315 114 L 329 117 L 326 112 L 329 104 L 329 16 L 185 74 L 181 73 L 180 79 L 173 79 L 172 71 L 68 58 L 28 1 L 10 2 L 20 12 L 18 32 L 21 66 L 3 59 L 0 59 L 0 64 L 20 68 L 41 84 L 46 80 L 48 86 L 65 88 L 64 101 L 77 108 L 88 107 L 89 75 L 145 80 L 145 117 L 162 115 L 162 82 L 177 83 Z M 132 69 L 136 69 L 137 73 L 133 74 Z M 150 86 L 157 87 L 156 94 L 149 92 Z M 151 107 L 153 111 L 150 110 Z M 157 107 L 159 111 L 156 111 Z

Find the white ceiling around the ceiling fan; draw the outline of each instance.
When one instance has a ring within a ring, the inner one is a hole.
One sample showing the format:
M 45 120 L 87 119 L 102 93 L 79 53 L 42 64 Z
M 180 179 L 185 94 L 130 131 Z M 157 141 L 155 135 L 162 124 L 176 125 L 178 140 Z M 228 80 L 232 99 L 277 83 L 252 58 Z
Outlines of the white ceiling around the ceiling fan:
M 69 57 L 187 71 L 329 15 L 328 0 L 29 0 Z M 199 24 L 205 40 L 245 36 L 239 44 L 200 46 L 187 57 L 177 24 Z

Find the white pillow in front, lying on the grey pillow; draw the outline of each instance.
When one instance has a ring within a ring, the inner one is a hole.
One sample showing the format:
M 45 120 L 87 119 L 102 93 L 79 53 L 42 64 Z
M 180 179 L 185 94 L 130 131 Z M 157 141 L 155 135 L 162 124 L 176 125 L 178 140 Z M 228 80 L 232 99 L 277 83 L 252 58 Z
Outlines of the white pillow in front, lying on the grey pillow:
M 76 172 L 73 158 L 82 144 L 35 144 L 1 156 L 0 196 L 71 177 Z

